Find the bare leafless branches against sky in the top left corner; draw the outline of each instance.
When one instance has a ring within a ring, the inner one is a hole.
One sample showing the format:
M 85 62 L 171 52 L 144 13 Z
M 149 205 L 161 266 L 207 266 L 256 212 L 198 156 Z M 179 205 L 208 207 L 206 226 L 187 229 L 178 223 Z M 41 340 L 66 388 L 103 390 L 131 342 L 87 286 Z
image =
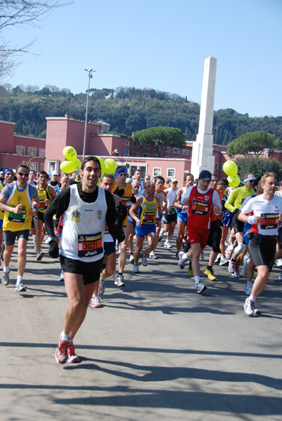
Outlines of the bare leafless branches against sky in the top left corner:
M 0 0 L 0 32 L 11 26 L 39 26 L 39 22 L 57 6 L 58 0 Z M 0 36 L 0 80 L 3 81 L 18 65 L 15 55 L 27 53 L 29 46 L 11 46 Z

